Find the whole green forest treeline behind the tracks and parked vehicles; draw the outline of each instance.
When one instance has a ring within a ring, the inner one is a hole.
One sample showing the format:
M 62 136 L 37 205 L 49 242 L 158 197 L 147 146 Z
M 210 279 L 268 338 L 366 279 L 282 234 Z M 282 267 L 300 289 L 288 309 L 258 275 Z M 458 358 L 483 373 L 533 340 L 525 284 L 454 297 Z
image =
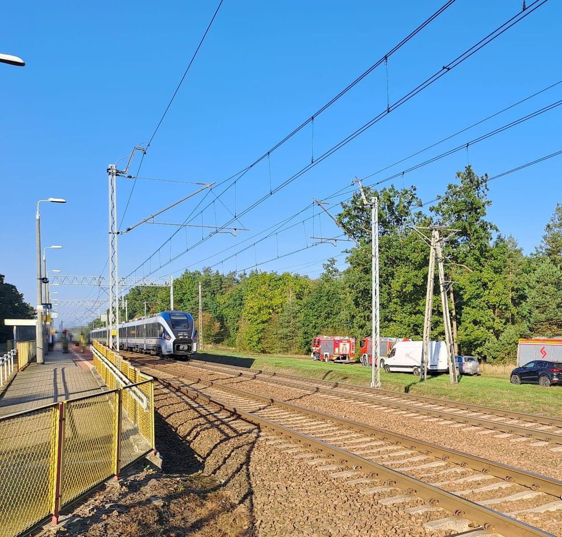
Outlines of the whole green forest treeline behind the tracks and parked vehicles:
M 487 180 L 468 166 L 428 207 L 415 187 L 366 189 L 368 197 L 379 197 L 383 336 L 422 337 L 429 247 L 410 226 L 432 223 L 457 230 L 443 253 L 446 279 L 454 282 L 449 300 L 461 354 L 507 363 L 515 358 L 519 337 L 562 336 L 562 204 L 542 240 L 537 237 L 536 251 L 524 255 L 514 237 L 488 220 Z M 320 333 L 370 335 L 370 210 L 357 194 L 342 204 L 337 219 L 358 243 L 346 252 L 344 270 L 335 259 L 317 278 L 186 270 L 174 281 L 175 308 L 197 318 L 201 281 L 205 342 L 241 350 L 307 353 Z M 126 299 L 129 318 L 142 316 L 145 302 L 148 312 L 169 309 L 166 288 L 133 288 Z M 438 299 L 432 338 L 443 339 Z

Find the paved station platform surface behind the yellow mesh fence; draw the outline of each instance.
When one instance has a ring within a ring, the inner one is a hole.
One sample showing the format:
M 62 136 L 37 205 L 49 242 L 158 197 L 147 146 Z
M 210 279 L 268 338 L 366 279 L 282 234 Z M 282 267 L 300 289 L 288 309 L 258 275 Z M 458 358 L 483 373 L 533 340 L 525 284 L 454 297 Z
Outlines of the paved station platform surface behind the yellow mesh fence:
M 44 364 L 30 363 L 16 374 L 0 396 L 0 416 L 107 389 L 93 367 L 89 350 L 80 354 L 71 345 L 68 354 L 56 349 L 44 361 Z

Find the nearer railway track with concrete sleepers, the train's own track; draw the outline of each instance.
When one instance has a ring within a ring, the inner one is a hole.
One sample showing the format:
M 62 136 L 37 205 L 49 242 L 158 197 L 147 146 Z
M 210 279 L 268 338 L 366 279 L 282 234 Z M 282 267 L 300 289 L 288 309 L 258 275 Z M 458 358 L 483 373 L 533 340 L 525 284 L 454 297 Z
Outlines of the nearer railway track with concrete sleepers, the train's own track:
M 353 478 L 347 483 L 355 482 L 358 494 L 372 495 L 379 504 L 397 506 L 411 515 L 442 513 L 426 529 L 482 536 L 562 535 L 562 482 L 558 480 L 171 371 L 170 364 L 133 360 L 169 389 L 218 405 L 282 436 L 269 442 L 291 456 L 306 458 L 334 477 Z

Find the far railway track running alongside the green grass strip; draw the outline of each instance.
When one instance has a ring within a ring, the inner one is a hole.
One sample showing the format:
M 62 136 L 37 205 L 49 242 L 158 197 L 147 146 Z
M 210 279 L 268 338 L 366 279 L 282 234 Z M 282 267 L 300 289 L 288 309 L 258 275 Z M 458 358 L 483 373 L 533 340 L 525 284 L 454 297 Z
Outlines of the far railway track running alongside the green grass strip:
M 135 356 L 134 353 L 130 354 Z M 199 365 L 198 362 L 203 365 Z M 424 415 L 562 446 L 562 419 L 556 417 L 483 407 L 421 395 L 401 394 L 391 390 L 371 389 L 285 373 L 261 370 L 248 372 L 244 371 L 245 368 L 242 367 L 216 365 L 203 360 L 192 360 L 189 365 L 224 374 L 234 373 L 237 376 L 246 377 L 248 380 L 271 382 L 296 389 L 309 389 L 315 393 L 372 403 L 379 410 L 386 408 L 400 410 L 406 417 Z

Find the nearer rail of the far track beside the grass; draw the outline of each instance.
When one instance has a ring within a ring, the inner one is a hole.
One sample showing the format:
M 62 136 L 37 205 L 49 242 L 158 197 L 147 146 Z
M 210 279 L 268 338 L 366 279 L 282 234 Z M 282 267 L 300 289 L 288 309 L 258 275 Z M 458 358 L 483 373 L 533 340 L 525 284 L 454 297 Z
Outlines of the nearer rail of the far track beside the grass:
M 264 372 L 269 373 L 269 372 Z M 542 440 L 544 442 L 552 442 L 555 444 L 562 444 L 562 434 L 558 432 L 549 432 L 549 431 L 541 431 L 534 428 L 525 427 L 523 425 L 516 425 L 514 423 L 502 423 L 499 421 L 493 421 L 492 419 L 486 419 L 484 417 L 474 417 L 474 416 L 467 416 L 466 414 L 457 414 L 455 412 L 448 412 L 447 410 L 443 409 L 433 409 L 433 408 L 425 408 L 425 407 L 418 407 L 413 406 L 407 403 L 399 403 L 398 401 L 391 401 L 388 399 L 377 398 L 377 390 L 372 390 L 373 395 L 361 395 L 356 393 L 351 393 L 348 391 L 342 391 L 338 389 L 332 388 L 323 388 L 321 386 L 313 386 L 313 385 L 306 385 L 298 382 L 292 382 L 289 380 L 282 380 L 280 378 L 259 378 L 256 375 L 260 373 L 239 373 L 240 376 L 250 376 L 255 378 L 256 380 L 261 381 L 270 381 L 270 382 L 277 382 L 279 384 L 294 387 L 300 390 L 308 389 L 312 392 L 327 394 L 327 395 L 337 395 L 339 397 L 355 399 L 357 401 L 362 401 L 364 403 L 370 403 L 373 405 L 380 405 L 384 407 L 391 407 L 396 408 L 399 410 L 405 410 L 406 412 L 410 413 L 417 413 L 417 414 L 424 414 L 425 416 L 431 416 L 436 418 L 447 419 L 449 421 L 456 421 L 458 423 L 466 423 L 466 425 L 472 425 L 475 427 L 483 427 L 487 429 L 491 429 L 498 432 L 507 432 L 509 434 L 524 436 L 527 438 L 534 438 L 537 440 Z M 308 382 L 315 382 L 312 379 L 306 379 Z M 354 385 L 350 385 L 353 389 L 357 389 Z M 360 389 L 360 387 L 359 387 Z M 368 393 L 368 392 L 367 392 Z M 400 397 L 400 394 L 397 395 Z

